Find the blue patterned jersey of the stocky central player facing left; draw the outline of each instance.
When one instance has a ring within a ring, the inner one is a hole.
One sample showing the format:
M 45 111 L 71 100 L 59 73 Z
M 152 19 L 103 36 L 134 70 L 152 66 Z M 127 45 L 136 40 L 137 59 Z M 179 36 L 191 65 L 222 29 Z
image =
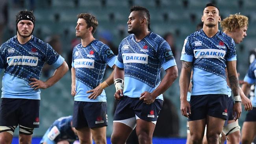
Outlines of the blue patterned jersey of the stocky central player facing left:
M 142 92 L 158 87 L 161 67 L 166 70 L 176 62 L 169 44 L 151 32 L 140 42 L 134 34 L 123 39 L 115 64 L 124 68 L 124 96 L 139 98 Z M 158 99 L 163 100 L 162 94 Z

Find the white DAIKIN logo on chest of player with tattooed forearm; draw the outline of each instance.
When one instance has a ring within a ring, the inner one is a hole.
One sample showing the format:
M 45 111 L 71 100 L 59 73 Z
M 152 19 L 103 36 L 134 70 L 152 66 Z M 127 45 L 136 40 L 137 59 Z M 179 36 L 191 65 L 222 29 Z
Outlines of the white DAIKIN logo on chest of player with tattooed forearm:
M 195 58 L 216 58 L 224 59 L 226 51 L 217 49 L 199 49 L 194 50 Z

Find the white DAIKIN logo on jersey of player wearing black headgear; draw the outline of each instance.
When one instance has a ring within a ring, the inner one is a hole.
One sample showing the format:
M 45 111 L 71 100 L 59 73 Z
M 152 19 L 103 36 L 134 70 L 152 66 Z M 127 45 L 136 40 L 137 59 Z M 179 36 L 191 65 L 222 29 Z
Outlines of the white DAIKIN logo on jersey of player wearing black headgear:
M 7 63 L 9 66 L 11 65 L 37 66 L 38 57 L 30 57 L 30 56 L 24 56 L 24 55 L 7 57 Z

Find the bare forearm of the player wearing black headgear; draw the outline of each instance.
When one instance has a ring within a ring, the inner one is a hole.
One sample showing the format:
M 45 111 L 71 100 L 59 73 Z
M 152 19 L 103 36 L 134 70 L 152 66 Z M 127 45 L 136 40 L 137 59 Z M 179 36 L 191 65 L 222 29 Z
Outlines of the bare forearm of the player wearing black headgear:
M 54 83 L 59 81 L 59 79 L 61 79 L 67 73 L 68 70 L 69 66 L 64 61 L 62 65 L 55 70 L 54 74 L 47 81 L 45 81 L 47 87 L 51 87 L 52 85 L 54 85 Z

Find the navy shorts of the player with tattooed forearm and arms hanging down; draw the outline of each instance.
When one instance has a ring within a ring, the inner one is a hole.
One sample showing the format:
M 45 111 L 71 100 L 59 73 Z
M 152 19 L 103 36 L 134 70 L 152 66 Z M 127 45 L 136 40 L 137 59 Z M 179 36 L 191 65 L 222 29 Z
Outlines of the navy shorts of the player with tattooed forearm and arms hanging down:
M 228 95 L 225 94 L 205 94 L 191 96 L 190 99 L 191 114 L 188 121 L 202 120 L 207 115 L 223 118 L 228 117 Z

